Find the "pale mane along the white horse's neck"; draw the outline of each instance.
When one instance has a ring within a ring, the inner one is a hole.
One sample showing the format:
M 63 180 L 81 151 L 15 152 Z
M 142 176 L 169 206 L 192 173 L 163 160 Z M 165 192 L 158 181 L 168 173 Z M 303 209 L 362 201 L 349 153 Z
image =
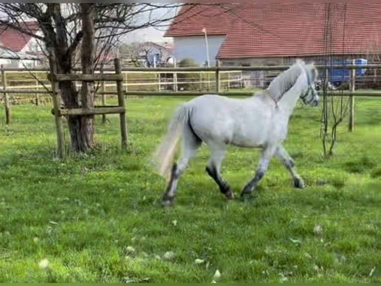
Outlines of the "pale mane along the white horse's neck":
M 296 62 L 287 70 L 283 71 L 276 78 L 274 78 L 269 87 L 261 95 L 266 93 L 266 95 L 278 102 L 286 91 L 288 91 L 295 84 L 305 66 L 306 64 L 303 60 L 297 59 Z

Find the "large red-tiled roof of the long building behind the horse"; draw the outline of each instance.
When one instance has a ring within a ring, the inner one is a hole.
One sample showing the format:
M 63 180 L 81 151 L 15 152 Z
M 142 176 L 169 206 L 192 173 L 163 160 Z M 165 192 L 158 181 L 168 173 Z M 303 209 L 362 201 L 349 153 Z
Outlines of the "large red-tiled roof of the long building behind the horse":
M 217 58 L 381 53 L 381 4 L 328 4 L 187 5 L 165 36 L 226 35 Z

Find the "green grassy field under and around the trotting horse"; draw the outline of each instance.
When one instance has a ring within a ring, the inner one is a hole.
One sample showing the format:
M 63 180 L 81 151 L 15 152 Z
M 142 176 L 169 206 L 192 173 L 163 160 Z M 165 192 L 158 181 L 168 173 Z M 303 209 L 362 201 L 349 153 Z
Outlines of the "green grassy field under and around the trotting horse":
M 226 201 L 203 146 L 162 208 L 149 157 L 186 99 L 127 101 L 128 151 L 118 117 L 97 117 L 98 149 L 64 161 L 49 106 L 13 107 L 10 126 L 1 109 L 0 282 L 381 282 L 381 100 L 359 100 L 355 132 L 343 124 L 330 160 L 320 108 L 298 107 L 285 146 L 304 190 L 273 159 L 255 198 Z M 236 194 L 258 158 L 229 149 Z

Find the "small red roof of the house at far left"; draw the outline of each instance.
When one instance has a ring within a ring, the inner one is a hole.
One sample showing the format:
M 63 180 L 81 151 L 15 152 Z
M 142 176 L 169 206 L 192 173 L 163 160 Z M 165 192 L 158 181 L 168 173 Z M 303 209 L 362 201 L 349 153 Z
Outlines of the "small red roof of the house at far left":
M 38 31 L 38 25 L 35 21 L 24 22 L 23 25 L 25 25 L 27 31 Z M 30 38 L 31 36 L 23 34 L 18 30 L 0 25 L 0 45 L 14 52 L 21 51 L 29 42 Z

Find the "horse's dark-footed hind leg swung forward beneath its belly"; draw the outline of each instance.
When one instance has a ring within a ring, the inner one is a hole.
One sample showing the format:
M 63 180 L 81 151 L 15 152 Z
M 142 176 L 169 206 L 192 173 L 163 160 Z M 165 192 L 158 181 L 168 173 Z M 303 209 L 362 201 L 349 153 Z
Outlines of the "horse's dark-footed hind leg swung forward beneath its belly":
M 233 199 L 234 195 L 229 184 L 222 178 L 221 164 L 225 158 L 226 146 L 218 146 L 208 143 L 211 156 L 209 163 L 206 166 L 206 172 L 217 183 L 221 193 L 223 193 L 228 199 Z

